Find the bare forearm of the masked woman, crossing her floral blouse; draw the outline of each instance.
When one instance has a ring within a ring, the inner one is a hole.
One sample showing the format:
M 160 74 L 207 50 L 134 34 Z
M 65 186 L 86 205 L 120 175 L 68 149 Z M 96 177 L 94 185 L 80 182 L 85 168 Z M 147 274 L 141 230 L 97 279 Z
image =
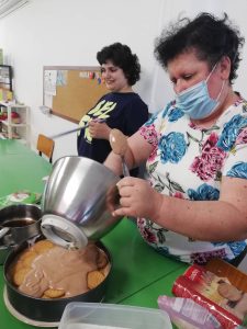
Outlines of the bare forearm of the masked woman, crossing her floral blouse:
M 169 230 L 204 241 L 242 240 L 247 216 L 224 201 L 189 201 L 162 195 L 153 219 Z

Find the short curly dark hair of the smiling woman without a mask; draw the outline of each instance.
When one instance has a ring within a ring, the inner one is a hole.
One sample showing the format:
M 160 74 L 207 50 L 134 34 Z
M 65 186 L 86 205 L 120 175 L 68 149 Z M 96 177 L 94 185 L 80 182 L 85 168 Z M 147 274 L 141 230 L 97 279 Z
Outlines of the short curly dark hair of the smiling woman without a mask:
M 100 65 L 111 60 L 115 66 L 122 68 L 130 86 L 139 80 L 141 65 L 138 57 L 132 54 L 128 46 L 121 43 L 114 43 L 103 47 L 97 53 L 97 59 Z

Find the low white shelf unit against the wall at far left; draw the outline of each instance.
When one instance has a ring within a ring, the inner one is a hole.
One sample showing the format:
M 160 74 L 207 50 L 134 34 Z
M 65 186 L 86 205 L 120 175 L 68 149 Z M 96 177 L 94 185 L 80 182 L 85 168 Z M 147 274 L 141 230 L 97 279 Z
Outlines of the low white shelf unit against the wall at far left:
M 1 121 L 0 137 L 3 139 L 19 139 L 30 144 L 30 109 L 26 105 L 0 102 L 0 107 L 7 113 L 7 120 Z M 14 123 L 12 112 L 20 116 L 20 123 Z

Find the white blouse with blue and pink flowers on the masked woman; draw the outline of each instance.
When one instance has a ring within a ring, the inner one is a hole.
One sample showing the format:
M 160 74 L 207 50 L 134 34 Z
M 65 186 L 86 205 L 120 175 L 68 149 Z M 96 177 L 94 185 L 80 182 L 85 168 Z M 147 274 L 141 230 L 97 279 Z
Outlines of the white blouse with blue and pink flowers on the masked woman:
M 147 177 L 159 193 L 193 201 L 218 200 L 222 175 L 247 180 L 247 102 L 237 101 L 209 129 L 194 126 L 170 102 L 139 129 L 153 146 Z M 138 218 L 143 238 L 157 251 L 180 261 L 204 263 L 237 257 L 246 241 L 203 242 Z M 184 223 L 186 225 L 186 223 Z

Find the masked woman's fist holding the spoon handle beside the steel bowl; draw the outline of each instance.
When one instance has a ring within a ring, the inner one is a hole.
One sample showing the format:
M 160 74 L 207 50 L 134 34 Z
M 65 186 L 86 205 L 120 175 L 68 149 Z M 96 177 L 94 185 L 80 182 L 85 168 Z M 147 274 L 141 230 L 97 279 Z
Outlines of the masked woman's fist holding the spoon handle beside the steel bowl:
M 113 216 L 155 217 L 162 203 L 162 196 L 143 180 L 126 177 L 117 183 L 120 207 Z

